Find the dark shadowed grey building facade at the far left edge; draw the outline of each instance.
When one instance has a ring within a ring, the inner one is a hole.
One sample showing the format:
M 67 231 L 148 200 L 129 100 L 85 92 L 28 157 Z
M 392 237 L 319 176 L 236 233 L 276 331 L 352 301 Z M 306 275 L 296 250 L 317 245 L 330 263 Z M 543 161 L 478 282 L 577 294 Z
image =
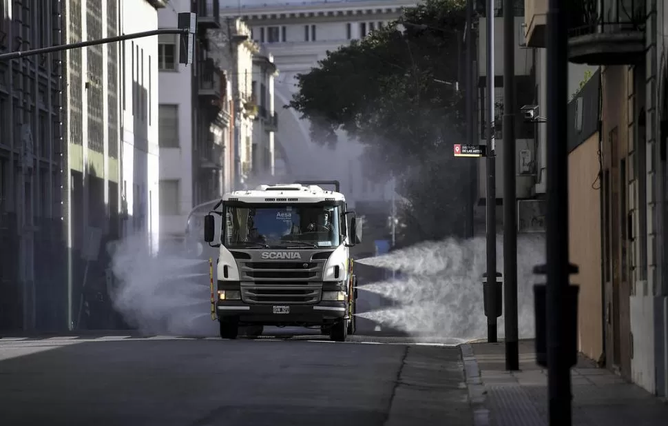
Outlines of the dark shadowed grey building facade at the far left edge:
M 0 52 L 63 43 L 65 3 L 0 0 Z M 64 53 L 0 63 L 3 330 L 67 326 L 63 61 Z

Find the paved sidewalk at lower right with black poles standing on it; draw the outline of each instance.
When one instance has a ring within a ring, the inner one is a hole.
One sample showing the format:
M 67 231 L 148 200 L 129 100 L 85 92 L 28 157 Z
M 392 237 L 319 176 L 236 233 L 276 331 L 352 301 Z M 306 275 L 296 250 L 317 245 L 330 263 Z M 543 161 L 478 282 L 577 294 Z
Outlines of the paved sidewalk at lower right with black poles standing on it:
M 534 342 L 519 343 L 519 372 L 505 371 L 503 343 L 460 346 L 475 426 L 547 426 L 547 370 Z M 668 403 L 585 358 L 571 370 L 574 426 L 667 425 Z

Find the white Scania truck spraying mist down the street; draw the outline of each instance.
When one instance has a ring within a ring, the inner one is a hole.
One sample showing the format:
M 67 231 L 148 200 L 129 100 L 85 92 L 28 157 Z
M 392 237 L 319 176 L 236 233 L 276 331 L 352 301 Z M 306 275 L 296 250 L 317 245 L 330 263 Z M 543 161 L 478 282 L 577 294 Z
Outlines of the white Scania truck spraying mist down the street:
M 221 338 L 236 338 L 241 326 L 251 336 L 264 326 L 320 326 L 333 341 L 354 334 L 350 247 L 362 241 L 362 220 L 347 210 L 337 181 L 227 193 L 204 228 L 205 241 L 219 247 L 211 293 Z

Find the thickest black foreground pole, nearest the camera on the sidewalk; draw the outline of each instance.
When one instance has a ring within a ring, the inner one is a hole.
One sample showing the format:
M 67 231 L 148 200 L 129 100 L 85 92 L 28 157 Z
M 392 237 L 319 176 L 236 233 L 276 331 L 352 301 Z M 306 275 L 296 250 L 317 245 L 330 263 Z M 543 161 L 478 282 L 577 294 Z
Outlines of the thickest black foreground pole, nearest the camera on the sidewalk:
M 568 259 L 568 23 L 563 1 L 547 3 L 547 399 L 550 426 L 572 424 L 571 375 L 576 347 L 577 287 Z M 537 330 L 536 330 L 537 332 Z M 537 334 L 536 334 L 537 335 Z

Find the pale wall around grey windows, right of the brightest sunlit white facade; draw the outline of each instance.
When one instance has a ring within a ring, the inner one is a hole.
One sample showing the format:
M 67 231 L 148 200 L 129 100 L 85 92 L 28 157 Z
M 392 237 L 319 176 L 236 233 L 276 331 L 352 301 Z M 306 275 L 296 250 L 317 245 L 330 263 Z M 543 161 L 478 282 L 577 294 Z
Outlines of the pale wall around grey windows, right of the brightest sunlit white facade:
M 189 10 L 188 0 L 171 0 L 158 11 L 160 28 L 175 27 L 177 13 Z M 176 50 L 178 62 L 178 45 Z M 158 103 L 178 105 L 179 148 L 160 148 L 160 179 L 179 181 L 178 215 L 161 216 L 163 235 L 182 235 L 187 215 L 193 206 L 191 67 L 176 64 L 174 71 L 158 72 Z

